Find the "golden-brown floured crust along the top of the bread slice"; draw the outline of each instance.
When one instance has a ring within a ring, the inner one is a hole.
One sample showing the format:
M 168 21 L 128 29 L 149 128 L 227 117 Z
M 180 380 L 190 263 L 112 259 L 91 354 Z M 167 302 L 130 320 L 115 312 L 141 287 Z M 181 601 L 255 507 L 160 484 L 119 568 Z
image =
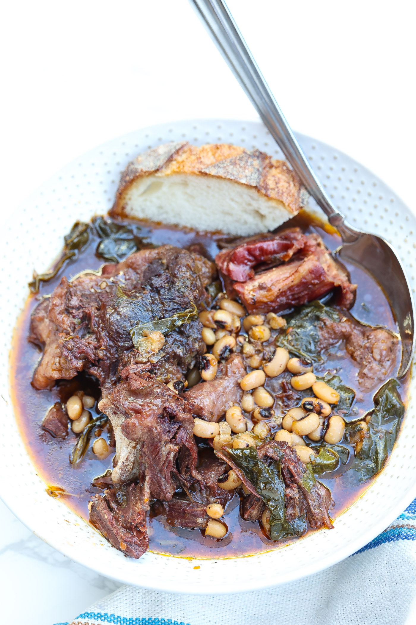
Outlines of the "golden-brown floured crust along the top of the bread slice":
M 110 214 L 123 215 L 125 194 L 134 181 L 149 174 L 214 176 L 254 187 L 263 196 L 283 202 L 291 216 L 306 203 L 307 193 L 284 161 L 259 150 L 248 151 L 228 143 L 192 146 L 172 141 L 139 154 L 122 174 Z

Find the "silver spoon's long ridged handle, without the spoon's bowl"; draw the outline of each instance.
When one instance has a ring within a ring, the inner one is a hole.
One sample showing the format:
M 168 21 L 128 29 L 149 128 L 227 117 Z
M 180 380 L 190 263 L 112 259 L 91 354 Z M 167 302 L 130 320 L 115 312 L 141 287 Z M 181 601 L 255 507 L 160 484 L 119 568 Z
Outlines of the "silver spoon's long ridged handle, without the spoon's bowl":
M 344 216 L 332 205 L 316 178 L 225 2 L 191 0 L 191 4 L 306 190 L 321 206 L 329 222 L 333 226 L 342 226 Z

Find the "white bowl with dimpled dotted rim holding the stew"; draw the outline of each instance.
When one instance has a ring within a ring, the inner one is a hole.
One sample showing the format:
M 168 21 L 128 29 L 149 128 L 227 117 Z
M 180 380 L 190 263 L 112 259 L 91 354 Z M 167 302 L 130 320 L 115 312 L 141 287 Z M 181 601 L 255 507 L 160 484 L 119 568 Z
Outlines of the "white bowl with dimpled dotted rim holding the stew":
M 37 536 L 73 560 L 120 582 L 169 592 L 228 593 L 292 581 L 336 564 L 382 531 L 416 496 L 415 383 L 404 427 L 390 461 L 365 494 L 323 530 L 251 557 L 183 559 L 147 552 L 123 556 L 59 499 L 46 493 L 22 444 L 9 396 L 8 358 L 16 318 L 27 297 L 32 271 L 46 269 L 77 219 L 105 213 L 114 200 L 120 173 L 145 149 L 187 139 L 197 145 L 228 142 L 258 148 L 277 158 L 279 149 L 261 123 L 228 120 L 181 121 L 129 133 L 95 148 L 39 187 L 2 228 L 2 357 L 0 495 Z M 382 181 L 345 154 L 306 136 L 299 141 L 329 195 L 354 226 L 391 242 L 412 287 L 416 218 Z M 413 289 L 414 290 L 414 289 Z M 66 519 L 66 520 L 64 520 Z M 225 583 L 226 580 L 226 583 Z

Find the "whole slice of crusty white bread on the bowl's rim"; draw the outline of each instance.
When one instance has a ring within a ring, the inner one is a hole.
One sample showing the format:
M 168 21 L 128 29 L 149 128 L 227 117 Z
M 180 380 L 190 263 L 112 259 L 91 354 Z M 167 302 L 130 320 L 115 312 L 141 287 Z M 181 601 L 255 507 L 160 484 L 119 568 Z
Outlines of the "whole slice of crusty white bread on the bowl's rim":
M 122 174 L 110 215 L 246 236 L 299 212 L 307 192 L 284 161 L 226 143 L 165 143 Z

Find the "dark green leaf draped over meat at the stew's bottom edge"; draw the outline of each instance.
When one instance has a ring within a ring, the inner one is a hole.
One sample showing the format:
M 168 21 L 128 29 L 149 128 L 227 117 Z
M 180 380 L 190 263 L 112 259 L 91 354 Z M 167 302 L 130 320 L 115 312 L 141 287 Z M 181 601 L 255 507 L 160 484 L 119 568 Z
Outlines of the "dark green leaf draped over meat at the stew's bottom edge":
M 286 519 L 284 507 L 286 489 L 281 476 L 280 462 L 276 460 L 268 466 L 259 460 L 255 447 L 227 451 L 270 510 L 271 539 L 278 541 L 289 536 L 301 536 L 306 530 L 305 518 L 298 517 L 291 522 Z

